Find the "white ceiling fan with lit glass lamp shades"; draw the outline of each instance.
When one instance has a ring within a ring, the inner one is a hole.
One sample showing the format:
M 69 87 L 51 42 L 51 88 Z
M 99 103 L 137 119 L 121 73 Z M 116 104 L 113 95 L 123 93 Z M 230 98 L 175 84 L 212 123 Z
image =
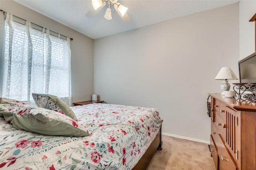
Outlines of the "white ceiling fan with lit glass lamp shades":
M 116 11 L 124 22 L 130 22 L 131 18 L 126 13 L 128 8 L 122 6 L 117 1 L 118 0 L 92 0 L 93 8 L 86 14 L 86 16 L 92 18 L 108 3 L 108 8 L 106 10 L 104 18 L 106 18 L 107 20 L 112 19 L 112 16 L 111 16 L 111 6 L 112 6 L 113 12 Z

